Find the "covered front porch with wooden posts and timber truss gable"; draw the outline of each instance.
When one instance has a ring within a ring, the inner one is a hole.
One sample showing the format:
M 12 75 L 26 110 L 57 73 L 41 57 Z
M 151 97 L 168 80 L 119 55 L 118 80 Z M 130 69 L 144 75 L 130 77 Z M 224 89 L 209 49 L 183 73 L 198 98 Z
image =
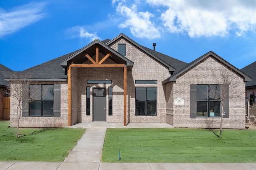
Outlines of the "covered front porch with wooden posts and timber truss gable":
M 110 121 L 112 95 L 119 97 L 116 108 L 122 110 L 122 124 L 126 126 L 127 71 L 132 69 L 132 61 L 96 39 L 61 65 L 68 74 L 68 126 Z

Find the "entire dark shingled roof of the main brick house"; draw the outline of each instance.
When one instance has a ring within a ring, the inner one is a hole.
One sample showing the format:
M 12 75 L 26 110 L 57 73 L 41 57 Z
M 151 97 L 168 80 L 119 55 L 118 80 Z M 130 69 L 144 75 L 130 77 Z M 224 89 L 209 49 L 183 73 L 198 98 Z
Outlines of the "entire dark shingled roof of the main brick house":
M 180 61 L 178 59 L 174 59 L 170 56 L 164 55 L 162 53 L 159 53 L 157 51 L 154 51 L 152 49 L 149 49 L 147 47 L 139 45 L 138 43 L 136 43 L 135 41 L 133 41 L 132 39 L 130 39 L 129 37 L 127 37 L 123 33 L 121 33 L 120 35 L 118 35 L 117 37 L 115 37 L 112 40 L 105 39 L 103 41 L 100 41 L 100 40 L 96 39 L 96 40 L 92 41 L 91 43 L 89 43 L 88 45 L 86 45 L 85 47 L 83 47 L 82 49 L 79 49 L 79 50 L 74 51 L 72 53 L 63 55 L 63 56 L 58 57 L 56 59 L 47 61 L 45 63 L 39 64 L 37 66 L 28 68 L 28 69 L 26 69 L 22 72 L 18 72 L 18 75 L 20 75 L 20 77 L 24 77 L 22 75 L 29 75 L 30 76 L 29 78 L 33 78 L 35 81 L 36 80 L 40 80 L 40 81 L 66 81 L 67 80 L 66 79 L 67 78 L 66 68 L 67 68 L 68 64 L 70 64 L 71 62 L 73 62 L 75 64 L 80 64 L 80 63 L 83 63 L 84 61 L 88 60 L 87 57 L 84 57 L 84 53 L 87 53 L 90 56 L 94 56 L 96 54 L 96 50 L 95 50 L 96 45 L 98 45 L 99 52 L 101 52 L 104 55 L 107 55 L 108 53 L 111 52 L 112 54 L 109 57 L 110 59 L 112 59 L 114 62 L 116 62 L 118 64 L 126 64 L 127 70 L 131 70 L 134 63 L 132 61 L 130 61 L 129 59 L 127 59 L 126 57 L 124 57 L 123 55 L 121 55 L 120 53 L 118 53 L 117 51 L 115 51 L 114 49 L 109 47 L 109 45 L 111 43 L 113 43 L 114 41 L 116 41 L 120 38 L 126 39 L 127 41 L 132 43 L 135 47 L 137 47 L 138 49 L 140 49 L 144 53 L 148 54 L 150 57 L 156 59 L 157 61 L 162 63 L 164 66 L 169 68 L 169 71 L 172 72 L 173 74 L 169 78 L 164 80 L 162 82 L 163 84 L 166 84 L 166 83 L 172 82 L 172 81 L 176 81 L 176 78 L 179 75 L 181 75 L 186 70 L 192 68 L 197 63 L 201 62 L 202 60 L 204 60 L 206 57 L 209 57 L 209 56 L 214 57 L 216 60 L 218 60 L 218 61 L 226 64 L 230 68 L 232 68 L 235 72 L 237 72 L 241 77 L 244 78 L 245 82 L 248 82 L 248 81 L 252 80 L 244 72 L 242 72 L 238 68 L 234 67 L 233 65 L 231 65 L 230 63 L 228 63 L 227 61 L 225 61 L 224 59 L 222 59 L 220 56 L 216 55 L 212 51 L 209 51 L 205 55 L 202 55 L 198 59 L 196 59 L 196 60 L 192 61 L 191 63 L 187 64 L 187 63 L 185 63 L 183 61 Z M 0 68 L 1 68 L 1 65 L 0 65 Z M 3 70 L 7 70 L 7 72 L 10 71 L 10 69 L 7 68 L 7 67 L 3 67 L 3 68 L 4 68 Z M 2 71 L 2 74 L 3 74 L 3 72 L 4 71 Z M 0 78 L 1 77 L 2 77 L 2 75 L 0 75 Z M 5 76 L 4 80 L 8 81 L 10 79 L 8 79 L 8 76 Z

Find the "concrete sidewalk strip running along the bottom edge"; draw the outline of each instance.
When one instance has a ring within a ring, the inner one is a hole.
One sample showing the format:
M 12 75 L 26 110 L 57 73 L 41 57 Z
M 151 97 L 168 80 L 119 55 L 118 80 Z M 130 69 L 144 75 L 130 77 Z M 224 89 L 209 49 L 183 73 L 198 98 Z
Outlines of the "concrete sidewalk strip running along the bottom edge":
M 0 170 L 256 170 L 256 164 L 0 162 Z

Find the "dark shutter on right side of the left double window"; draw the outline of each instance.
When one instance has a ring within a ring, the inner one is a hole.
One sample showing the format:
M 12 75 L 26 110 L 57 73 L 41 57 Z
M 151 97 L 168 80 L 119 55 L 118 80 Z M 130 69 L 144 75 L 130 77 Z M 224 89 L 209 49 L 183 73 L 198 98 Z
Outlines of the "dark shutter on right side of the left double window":
M 53 115 L 60 117 L 60 84 L 54 84 Z

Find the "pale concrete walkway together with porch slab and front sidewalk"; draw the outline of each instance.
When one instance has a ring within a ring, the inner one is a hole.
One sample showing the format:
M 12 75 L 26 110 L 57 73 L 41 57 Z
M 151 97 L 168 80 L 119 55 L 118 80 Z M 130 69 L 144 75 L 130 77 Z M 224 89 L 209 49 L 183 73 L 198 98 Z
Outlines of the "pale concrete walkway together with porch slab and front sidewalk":
M 79 123 L 86 128 L 63 162 L 0 162 L 0 170 L 256 170 L 256 163 L 104 163 L 100 162 L 107 128 L 172 128 L 166 123 Z

